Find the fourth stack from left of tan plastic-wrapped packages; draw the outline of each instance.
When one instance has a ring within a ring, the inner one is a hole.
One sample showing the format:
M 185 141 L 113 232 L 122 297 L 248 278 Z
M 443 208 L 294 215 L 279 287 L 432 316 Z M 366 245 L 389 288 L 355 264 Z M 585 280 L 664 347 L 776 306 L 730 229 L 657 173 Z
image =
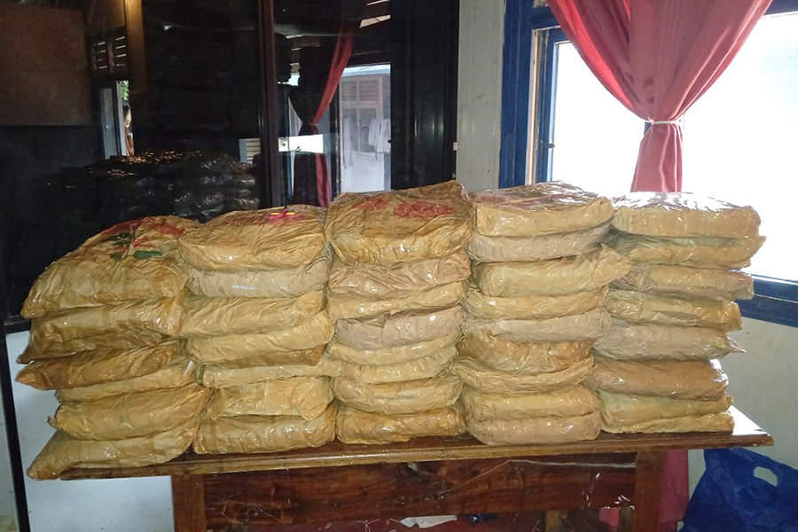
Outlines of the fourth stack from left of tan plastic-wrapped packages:
M 548 183 L 473 194 L 468 321 L 451 371 L 468 432 L 484 443 L 590 440 L 596 395 L 580 383 L 610 327 L 607 285 L 630 263 L 606 246 L 609 200 Z

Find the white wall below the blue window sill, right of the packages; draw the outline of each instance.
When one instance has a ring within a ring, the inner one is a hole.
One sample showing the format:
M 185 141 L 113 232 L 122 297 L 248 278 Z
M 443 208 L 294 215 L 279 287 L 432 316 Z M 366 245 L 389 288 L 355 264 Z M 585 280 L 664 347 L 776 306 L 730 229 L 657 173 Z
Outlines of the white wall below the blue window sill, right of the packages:
M 798 328 L 744 318 L 731 336 L 747 351 L 721 362 L 734 405 L 775 441 L 755 451 L 798 469 Z M 703 471 L 703 452 L 691 451 L 691 489 Z

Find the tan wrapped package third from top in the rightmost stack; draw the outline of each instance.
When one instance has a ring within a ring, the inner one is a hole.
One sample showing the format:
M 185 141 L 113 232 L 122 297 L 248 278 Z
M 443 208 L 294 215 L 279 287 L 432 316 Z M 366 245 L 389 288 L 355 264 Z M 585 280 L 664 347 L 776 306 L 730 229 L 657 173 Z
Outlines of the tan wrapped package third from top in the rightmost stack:
M 754 278 L 742 271 L 668 264 L 636 264 L 628 274 L 615 280 L 614 286 L 685 299 L 732 301 L 754 297 Z

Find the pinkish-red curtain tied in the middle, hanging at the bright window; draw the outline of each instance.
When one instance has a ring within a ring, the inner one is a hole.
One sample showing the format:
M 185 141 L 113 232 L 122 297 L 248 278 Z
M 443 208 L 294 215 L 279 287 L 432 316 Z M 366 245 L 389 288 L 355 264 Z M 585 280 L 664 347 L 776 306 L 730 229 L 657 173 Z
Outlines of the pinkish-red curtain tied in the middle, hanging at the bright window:
M 677 120 L 712 86 L 771 0 L 550 0 L 593 74 L 651 122 L 632 191 L 682 188 Z M 732 110 L 730 110 L 732 112 Z

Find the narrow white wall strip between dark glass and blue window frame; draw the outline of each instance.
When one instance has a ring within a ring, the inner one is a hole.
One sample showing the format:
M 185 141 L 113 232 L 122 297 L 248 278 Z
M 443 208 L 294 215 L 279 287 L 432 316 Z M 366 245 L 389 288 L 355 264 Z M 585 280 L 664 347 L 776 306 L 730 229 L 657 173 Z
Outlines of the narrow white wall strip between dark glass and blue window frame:
M 460 0 L 457 175 L 469 191 L 498 186 L 504 35 L 502 0 Z

